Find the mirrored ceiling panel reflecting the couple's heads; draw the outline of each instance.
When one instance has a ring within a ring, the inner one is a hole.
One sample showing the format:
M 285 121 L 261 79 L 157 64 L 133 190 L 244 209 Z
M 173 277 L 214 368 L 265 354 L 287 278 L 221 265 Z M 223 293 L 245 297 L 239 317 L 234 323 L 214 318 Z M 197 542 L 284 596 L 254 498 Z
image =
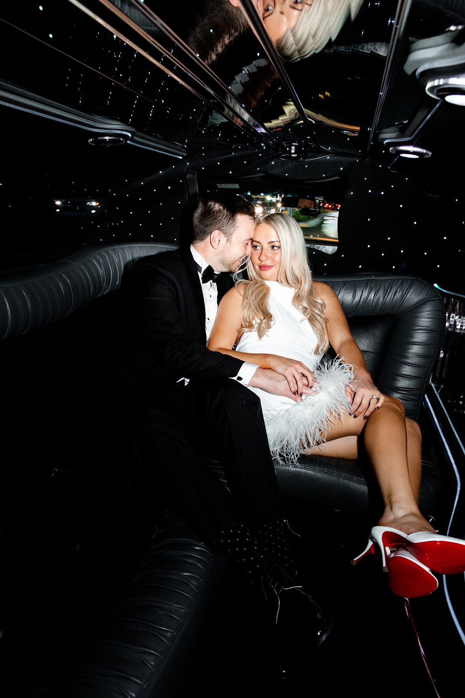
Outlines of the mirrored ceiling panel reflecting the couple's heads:
M 211 0 L 196 3 L 186 28 L 158 7 L 280 142 L 310 132 L 307 147 L 348 154 L 366 148 L 396 10 L 395 1 Z

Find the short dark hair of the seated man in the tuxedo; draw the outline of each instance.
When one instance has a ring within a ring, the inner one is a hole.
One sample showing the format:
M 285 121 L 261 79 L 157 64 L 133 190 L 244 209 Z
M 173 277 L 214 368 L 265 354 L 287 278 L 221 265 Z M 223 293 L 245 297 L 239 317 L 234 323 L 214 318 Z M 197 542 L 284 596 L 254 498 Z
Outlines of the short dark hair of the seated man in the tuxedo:
M 229 240 L 239 215 L 255 218 L 255 208 L 238 194 L 220 192 L 201 197 L 192 217 L 192 242 L 202 242 L 213 230 L 221 230 Z

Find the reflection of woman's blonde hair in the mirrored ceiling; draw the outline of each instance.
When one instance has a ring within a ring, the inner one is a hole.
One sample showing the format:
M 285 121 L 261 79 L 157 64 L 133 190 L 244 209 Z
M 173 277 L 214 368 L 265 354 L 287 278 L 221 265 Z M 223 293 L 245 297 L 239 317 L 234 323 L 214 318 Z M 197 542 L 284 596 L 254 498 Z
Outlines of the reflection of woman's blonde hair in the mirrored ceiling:
M 287 29 L 276 50 L 284 61 L 300 61 L 321 51 L 334 40 L 351 15 L 356 17 L 363 0 L 314 0 L 308 12 L 300 13 L 294 29 Z

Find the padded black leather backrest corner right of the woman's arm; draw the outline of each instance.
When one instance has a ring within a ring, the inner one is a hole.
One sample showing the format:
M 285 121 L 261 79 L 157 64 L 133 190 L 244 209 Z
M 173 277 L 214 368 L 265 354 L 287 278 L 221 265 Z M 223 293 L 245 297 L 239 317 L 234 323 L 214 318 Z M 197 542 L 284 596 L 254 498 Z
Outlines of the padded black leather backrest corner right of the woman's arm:
M 407 417 L 418 421 L 425 390 L 445 329 L 439 292 L 426 281 L 410 276 L 351 274 L 315 277 L 328 283 L 340 299 L 360 349 L 383 355 L 377 362 L 376 382 L 381 392 L 399 399 Z M 392 318 L 388 332 L 376 318 Z M 360 318 L 364 318 L 363 325 Z M 369 318 L 374 319 L 373 332 Z M 388 336 L 386 336 L 386 334 Z

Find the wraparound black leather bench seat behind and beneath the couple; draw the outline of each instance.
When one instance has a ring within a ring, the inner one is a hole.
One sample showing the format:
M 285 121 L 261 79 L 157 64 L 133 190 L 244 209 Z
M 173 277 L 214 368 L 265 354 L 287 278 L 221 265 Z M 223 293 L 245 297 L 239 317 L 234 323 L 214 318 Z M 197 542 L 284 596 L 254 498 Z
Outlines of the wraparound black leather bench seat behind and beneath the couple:
M 54 264 L 0 283 L 0 338 L 26 334 L 65 318 L 97 297 L 117 291 L 140 257 L 173 248 L 159 244 L 110 245 L 82 250 Z M 332 286 L 367 368 L 381 392 L 420 420 L 422 399 L 445 327 L 443 301 L 429 283 L 395 274 L 315 277 Z M 102 318 L 103 319 L 103 318 Z M 121 331 L 115 328 L 115 334 Z M 425 449 L 421 504 L 434 508 L 441 477 Z M 301 456 L 296 466 L 276 464 L 284 496 L 323 508 L 342 507 L 363 517 L 379 505 L 365 459 Z

